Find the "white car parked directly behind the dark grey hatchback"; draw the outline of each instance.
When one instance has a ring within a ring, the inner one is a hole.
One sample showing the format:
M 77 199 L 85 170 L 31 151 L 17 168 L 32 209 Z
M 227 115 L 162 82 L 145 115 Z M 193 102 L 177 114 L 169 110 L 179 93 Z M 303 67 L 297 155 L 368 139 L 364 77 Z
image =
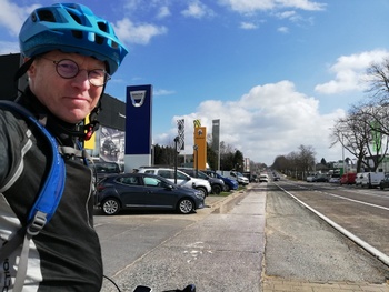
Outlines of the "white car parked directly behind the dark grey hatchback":
M 138 170 L 139 173 L 152 173 L 160 175 L 171 182 L 174 182 L 174 170 L 168 168 L 157 167 L 142 167 Z M 202 192 L 206 198 L 211 192 L 211 184 L 203 179 L 197 179 L 188 175 L 187 173 L 177 170 L 177 184 L 192 188 Z

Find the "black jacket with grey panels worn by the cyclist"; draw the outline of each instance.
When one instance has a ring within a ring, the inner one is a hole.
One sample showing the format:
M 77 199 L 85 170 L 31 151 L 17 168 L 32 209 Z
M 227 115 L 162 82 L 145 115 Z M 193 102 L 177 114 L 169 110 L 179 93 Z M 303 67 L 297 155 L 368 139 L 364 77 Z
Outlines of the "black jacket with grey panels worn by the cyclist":
M 74 124 L 56 119 L 29 89 L 18 101 L 37 118 L 59 144 L 74 147 Z M 70 134 L 69 134 L 70 133 Z M 26 224 L 48 172 L 49 145 L 42 133 L 13 112 L 0 109 L 0 244 Z M 29 291 L 100 291 L 102 261 L 93 229 L 92 172 L 78 158 L 66 159 L 66 185 L 51 221 L 32 238 L 26 286 Z M 0 263 L 0 291 L 14 278 L 17 250 Z

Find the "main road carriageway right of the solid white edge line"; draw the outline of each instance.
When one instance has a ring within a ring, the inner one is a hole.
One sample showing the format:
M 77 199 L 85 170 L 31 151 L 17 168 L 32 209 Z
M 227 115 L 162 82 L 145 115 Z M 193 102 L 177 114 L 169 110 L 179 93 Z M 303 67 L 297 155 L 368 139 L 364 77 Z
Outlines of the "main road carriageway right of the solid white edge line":
M 378 250 L 389 264 L 389 195 L 379 189 L 331 183 L 279 183 L 290 195 L 313 208 L 356 236 L 368 250 Z M 296 188 L 298 185 L 299 188 Z M 376 252 L 379 255 L 379 252 Z

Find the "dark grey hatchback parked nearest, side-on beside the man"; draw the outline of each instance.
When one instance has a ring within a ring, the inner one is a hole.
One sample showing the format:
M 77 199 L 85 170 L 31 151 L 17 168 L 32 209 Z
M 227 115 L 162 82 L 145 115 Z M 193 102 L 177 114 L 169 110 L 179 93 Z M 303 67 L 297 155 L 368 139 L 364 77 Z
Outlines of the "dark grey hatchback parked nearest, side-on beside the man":
M 121 209 L 174 210 L 188 214 L 203 208 L 205 200 L 200 191 L 154 174 L 122 173 L 99 182 L 98 205 L 107 215 L 114 215 Z

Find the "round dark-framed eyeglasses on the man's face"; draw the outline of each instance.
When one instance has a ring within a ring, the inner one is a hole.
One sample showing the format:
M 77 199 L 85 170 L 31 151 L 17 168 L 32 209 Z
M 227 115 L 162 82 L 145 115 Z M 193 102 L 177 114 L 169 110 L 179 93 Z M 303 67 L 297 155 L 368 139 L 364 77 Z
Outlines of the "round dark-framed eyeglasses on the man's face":
M 42 59 L 49 60 L 56 64 L 57 73 L 64 79 L 72 79 L 78 73 L 86 69 L 80 69 L 78 63 L 70 59 L 62 59 L 59 61 L 50 60 L 41 57 Z M 111 79 L 110 74 L 103 69 L 86 70 L 88 72 L 88 80 L 94 87 L 102 87 Z

